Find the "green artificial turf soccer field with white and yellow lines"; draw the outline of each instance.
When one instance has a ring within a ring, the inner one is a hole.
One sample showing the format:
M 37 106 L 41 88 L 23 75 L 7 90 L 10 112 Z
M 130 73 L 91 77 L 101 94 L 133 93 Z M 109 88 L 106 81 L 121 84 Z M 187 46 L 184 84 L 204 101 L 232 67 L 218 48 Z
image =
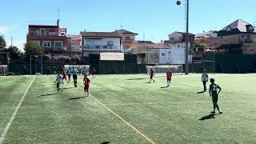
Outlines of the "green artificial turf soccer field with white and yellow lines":
M 256 143 L 256 74 L 209 74 L 222 87 L 210 114 L 200 74 L 90 78 L 90 97 L 54 77 L 0 77 L 2 143 Z M 73 80 L 73 79 L 72 79 Z M 207 83 L 209 86 L 210 83 Z M 201 120 L 200 120 L 201 119 Z

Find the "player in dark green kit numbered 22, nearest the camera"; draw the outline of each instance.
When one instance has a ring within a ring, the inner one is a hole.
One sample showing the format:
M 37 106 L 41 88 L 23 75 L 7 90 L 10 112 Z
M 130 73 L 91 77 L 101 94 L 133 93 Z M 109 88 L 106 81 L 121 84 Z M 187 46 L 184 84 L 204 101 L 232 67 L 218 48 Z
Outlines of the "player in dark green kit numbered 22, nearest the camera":
M 214 78 L 210 78 L 211 84 L 210 84 L 209 94 L 214 104 L 214 110 L 211 111 L 210 113 L 215 114 L 215 109 L 217 108 L 218 113 L 222 114 L 222 111 L 220 111 L 218 107 L 218 94 L 222 91 L 222 88 L 217 84 L 215 84 L 214 81 L 215 81 Z

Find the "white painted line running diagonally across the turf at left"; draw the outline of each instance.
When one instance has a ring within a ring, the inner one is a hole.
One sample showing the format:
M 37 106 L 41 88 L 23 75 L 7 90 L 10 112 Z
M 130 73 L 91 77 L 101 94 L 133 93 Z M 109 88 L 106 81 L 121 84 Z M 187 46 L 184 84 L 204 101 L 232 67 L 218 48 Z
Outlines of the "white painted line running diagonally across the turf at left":
M 12 114 L 12 116 L 10 117 L 9 122 L 8 122 L 7 125 L 6 125 L 5 130 L 3 130 L 2 134 L 1 134 L 1 137 L 0 137 L 0 144 L 2 144 L 2 142 L 3 142 L 3 140 L 4 140 L 5 136 L 6 136 L 6 133 L 7 133 L 8 130 L 10 129 L 11 123 L 14 121 L 14 118 L 15 118 L 17 112 L 18 112 L 18 109 L 19 109 L 20 106 L 22 105 L 22 102 L 23 102 L 24 98 L 26 97 L 26 93 L 28 92 L 28 90 L 30 90 L 30 86 L 31 86 L 32 83 L 34 82 L 34 79 L 35 79 L 35 78 L 36 78 L 36 77 L 34 77 L 33 80 L 30 82 L 30 85 L 27 86 L 25 93 L 22 95 L 22 99 L 18 102 L 18 106 L 17 106 L 16 109 L 14 110 L 14 114 Z

